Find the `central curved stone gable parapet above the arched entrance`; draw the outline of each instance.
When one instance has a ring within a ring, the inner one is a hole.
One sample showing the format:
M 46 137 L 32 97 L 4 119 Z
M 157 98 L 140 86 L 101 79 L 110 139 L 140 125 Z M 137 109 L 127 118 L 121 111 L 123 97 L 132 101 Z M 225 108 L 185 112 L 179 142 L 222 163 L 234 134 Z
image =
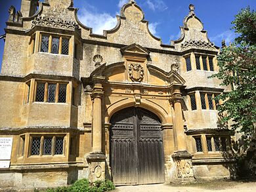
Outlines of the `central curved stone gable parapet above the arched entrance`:
M 151 33 L 148 21 L 144 20 L 144 12 L 135 1 L 123 5 L 120 16 L 116 17 L 117 24 L 113 29 L 104 30 L 103 35 L 97 35 L 93 33 L 92 28 L 79 22 L 77 11 L 75 12 L 77 23 L 82 28 L 82 37 L 85 39 L 105 39 L 123 45 L 138 43 L 143 47 L 161 48 L 161 39 Z M 83 33 L 84 31 L 87 32 Z

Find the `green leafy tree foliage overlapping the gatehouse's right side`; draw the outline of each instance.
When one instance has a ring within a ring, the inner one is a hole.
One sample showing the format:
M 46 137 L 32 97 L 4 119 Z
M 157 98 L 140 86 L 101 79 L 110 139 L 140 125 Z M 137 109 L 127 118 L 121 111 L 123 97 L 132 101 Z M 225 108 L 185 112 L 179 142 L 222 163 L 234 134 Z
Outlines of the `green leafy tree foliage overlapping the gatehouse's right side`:
M 217 97 L 224 101 L 218 107 L 222 123 L 232 121 L 232 129 L 242 132 L 241 140 L 248 144 L 255 136 L 256 124 L 256 12 L 249 7 L 242 9 L 232 24 L 238 36 L 222 49 L 219 73 L 211 77 L 230 87 Z

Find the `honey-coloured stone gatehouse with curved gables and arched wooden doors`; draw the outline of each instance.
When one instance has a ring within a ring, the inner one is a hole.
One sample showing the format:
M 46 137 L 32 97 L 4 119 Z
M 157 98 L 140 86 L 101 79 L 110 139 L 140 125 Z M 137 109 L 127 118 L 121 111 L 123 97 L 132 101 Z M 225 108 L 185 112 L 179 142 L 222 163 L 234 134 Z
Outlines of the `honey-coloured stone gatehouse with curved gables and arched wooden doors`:
M 80 178 L 116 185 L 234 174 L 231 133 L 213 100 L 220 51 L 194 5 L 164 45 L 133 0 L 92 33 L 73 0 L 9 9 L 0 76 L 0 185 L 54 187 Z

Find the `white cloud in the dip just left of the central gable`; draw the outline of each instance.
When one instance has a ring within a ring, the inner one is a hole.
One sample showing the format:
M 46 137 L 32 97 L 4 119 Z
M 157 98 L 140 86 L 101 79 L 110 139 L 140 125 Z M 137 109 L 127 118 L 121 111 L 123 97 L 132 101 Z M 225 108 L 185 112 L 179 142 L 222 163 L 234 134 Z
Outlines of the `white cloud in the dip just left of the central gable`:
M 99 13 L 91 5 L 85 5 L 85 7 L 79 10 L 78 18 L 85 26 L 93 28 L 93 33 L 102 35 L 103 30 L 113 29 L 116 26 L 116 16 L 112 16 L 106 12 Z

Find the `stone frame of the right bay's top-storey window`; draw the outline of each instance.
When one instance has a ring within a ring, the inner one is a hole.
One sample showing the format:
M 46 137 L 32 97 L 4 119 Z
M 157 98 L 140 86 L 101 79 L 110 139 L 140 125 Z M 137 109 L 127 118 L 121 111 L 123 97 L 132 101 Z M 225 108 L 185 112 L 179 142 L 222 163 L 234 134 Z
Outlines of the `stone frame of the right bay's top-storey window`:
M 216 66 L 215 66 L 215 62 L 214 62 L 215 55 L 195 53 L 194 57 L 195 57 L 194 62 L 195 62 L 196 70 L 198 70 L 198 71 L 212 71 L 212 72 L 217 71 Z M 196 62 L 197 57 L 200 58 L 200 69 L 198 69 L 198 67 L 197 67 L 197 62 Z M 204 69 L 204 66 L 203 66 L 203 57 L 206 58 L 206 65 L 207 65 L 206 70 Z M 212 60 L 212 66 L 210 65 L 210 62 L 209 62 L 210 58 Z

